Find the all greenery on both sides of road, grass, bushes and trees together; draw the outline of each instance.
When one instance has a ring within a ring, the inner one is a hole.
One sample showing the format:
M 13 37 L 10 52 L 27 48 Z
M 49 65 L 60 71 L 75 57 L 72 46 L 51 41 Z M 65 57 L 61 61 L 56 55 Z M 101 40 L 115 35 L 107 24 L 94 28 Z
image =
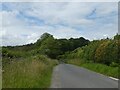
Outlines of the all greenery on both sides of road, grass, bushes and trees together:
M 118 78 L 119 46 L 120 35 L 90 42 L 44 33 L 34 44 L 2 47 L 3 88 L 47 88 L 59 62 Z

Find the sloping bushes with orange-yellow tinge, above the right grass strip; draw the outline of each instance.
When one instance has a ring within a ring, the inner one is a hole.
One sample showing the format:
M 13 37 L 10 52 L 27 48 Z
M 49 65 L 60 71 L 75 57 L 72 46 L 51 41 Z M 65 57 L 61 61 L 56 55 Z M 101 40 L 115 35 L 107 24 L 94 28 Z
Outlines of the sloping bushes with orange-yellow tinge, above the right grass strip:
M 120 41 L 118 35 L 115 37 L 117 37 L 117 39 L 94 40 L 86 46 L 77 48 L 70 53 L 66 53 L 62 58 L 82 59 L 86 62 L 96 62 L 106 65 L 119 63 Z

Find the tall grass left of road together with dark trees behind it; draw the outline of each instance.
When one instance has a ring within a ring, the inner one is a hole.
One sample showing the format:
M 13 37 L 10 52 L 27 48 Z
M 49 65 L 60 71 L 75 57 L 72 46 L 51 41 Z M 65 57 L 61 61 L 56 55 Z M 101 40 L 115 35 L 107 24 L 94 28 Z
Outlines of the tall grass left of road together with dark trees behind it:
M 88 43 L 82 37 L 55 39 L 45 33 L 34 44 L 2 47 L 2 87 L 48 88 L 59 55 Z

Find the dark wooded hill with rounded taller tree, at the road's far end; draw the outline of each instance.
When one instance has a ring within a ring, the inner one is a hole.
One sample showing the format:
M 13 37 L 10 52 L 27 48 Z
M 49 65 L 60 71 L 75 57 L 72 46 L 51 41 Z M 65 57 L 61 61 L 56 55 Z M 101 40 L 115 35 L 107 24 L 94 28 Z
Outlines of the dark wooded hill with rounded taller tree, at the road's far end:
M 47 55 L 52 59 L 58 59 L 60 55 L 72 51 L 78 47 L 87 45 L 89 40 L 81 38 L 55 39 L 52 35 L 44 33 L 35 43 L 37 53 Z

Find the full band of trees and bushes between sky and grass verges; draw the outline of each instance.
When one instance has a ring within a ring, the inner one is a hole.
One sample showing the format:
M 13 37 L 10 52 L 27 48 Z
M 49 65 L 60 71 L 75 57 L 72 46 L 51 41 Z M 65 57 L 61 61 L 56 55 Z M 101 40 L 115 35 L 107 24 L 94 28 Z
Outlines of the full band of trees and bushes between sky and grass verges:
M 2 48 L 2 56 L 10 58 L 29 57 L 43 54 L 52 59 L 79 59 L 86 62 L 116 65 L 120 60 L 120 35 L 113 39 L 89 41 L 83 37 L 55 39 L 53 35 L 44 33 L 34 44 L 7 46 Z

